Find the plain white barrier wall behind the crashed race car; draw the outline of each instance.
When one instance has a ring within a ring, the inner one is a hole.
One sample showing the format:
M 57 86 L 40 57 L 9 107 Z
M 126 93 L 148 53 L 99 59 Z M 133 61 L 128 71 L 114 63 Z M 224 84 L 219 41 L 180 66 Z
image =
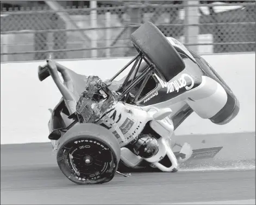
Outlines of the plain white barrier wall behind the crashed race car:
M 176 135 L 255 131 L 255 54 L 207 55 L 204 58 L 240 101 L 240 113 L 227 125 L 215 125 L 192 114 Z M 59 62 L 84 75 L 110 78 L 129 58 Z M 1 144 L 48 142 L 47 123 L 60 100 L 51 78 L 40 82 L 41 62 L 1 63 Z

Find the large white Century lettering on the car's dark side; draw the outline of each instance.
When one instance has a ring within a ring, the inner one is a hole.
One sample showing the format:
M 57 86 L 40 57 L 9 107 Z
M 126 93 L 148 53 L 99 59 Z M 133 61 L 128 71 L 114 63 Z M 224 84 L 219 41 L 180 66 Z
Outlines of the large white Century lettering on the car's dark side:
M 178 80 L 175 80 L 175 81 L 172 81 L 172 82 L 164 82 L 157 75 L 155 75 L 155 77 L 157 77 L 157 79 L 160 82 L 162 88 L 167 88 L 167 92 L 166 92 L 167 94 L 171 93 L 171 92 L 174 92 L 174 91 L 179 92 L 179 89 L 184 88 L 184 87 L 185 87 L 186 90 L 190 90 L 190 89 L 193 88 L 193 86 L 195 84 L 193 78 L 188 74 L 182 74 L 182 76 Z M 190 81 L 191 81 L 190 86 L 188 86 L 188 82 L 186 81 L 186 79 L 187 80 L 190 79 Z

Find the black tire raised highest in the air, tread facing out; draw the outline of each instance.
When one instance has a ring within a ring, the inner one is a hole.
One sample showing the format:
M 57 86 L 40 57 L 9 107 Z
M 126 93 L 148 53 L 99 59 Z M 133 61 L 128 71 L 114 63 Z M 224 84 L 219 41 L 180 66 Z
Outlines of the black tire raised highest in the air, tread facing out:
M 141 25 L 131 35 L 131 41 L 157 67 L 166 82 L 185 69 L 176 49 L 153 23 Z

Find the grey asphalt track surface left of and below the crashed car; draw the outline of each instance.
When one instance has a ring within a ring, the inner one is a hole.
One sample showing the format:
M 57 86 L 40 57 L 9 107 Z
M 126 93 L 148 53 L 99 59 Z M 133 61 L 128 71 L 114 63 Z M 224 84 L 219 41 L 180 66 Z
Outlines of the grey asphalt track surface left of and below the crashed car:
M 132 173 L 81 186 L 61 173 L 49 143 L 1 145 L 1 204 L 176 203 L 255 204 L 255 169 Z

